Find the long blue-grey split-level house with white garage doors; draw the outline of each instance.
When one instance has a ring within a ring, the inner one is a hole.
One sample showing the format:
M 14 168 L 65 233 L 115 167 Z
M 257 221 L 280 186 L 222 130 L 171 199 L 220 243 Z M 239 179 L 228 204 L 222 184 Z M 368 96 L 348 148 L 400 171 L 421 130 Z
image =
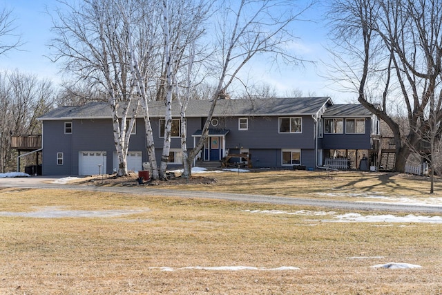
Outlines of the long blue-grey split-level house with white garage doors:
M 187 146 L 193 149 L 211 106 L 192 100 L 186 110 Z M 175 104 L 177 106 L 177 104 Z M 162 154 L 164 103 L 149 104 L 157 161 Z M 113 173 L 118 166 L 111 107 L 92 102 L 62 106 L 39 118 L 43 124 L 44 175 Z M 378 120 L 360 104 L 333 104 L 329 97 L 220 99 L 211 119 L 209 140 L 198 160 L 249 161 L 253 168 L 315 169 L 328 158 L 347 159 L 349 168 L 369 151 Z M 128 170 L 139 171 L 148 162 L 144 120 L 137 118 L 128 152 Z M 173 109 L 169 167 L 182 166 L 180 115 Z

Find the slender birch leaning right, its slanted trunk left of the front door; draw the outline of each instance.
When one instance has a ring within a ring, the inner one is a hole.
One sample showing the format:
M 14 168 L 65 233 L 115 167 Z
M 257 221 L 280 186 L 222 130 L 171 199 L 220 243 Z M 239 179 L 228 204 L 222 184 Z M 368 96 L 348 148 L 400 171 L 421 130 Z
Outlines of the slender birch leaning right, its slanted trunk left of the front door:
M 297 64 L 300 59 L 287 51 L 287 44 L 294 35 L 290 25 L 302 15 L 312 3 L 303 8 L 295 7 L 294 1 L 276 0 L 241 0 L 236 3 L 223 2 L 218 10 L 220 21 L 216 23 L 215 35 L 220 47 L 215 51 L 215 91 L 211 99 L 213 103 L 202 129 L 200 140 L 189 153 L 186 165 L 191 166 L 193 160 L 209 137 L 209 125 L 216 103 L 224 97 L 229 86 L 237 79 L 238 73 L 249 61 L 258 55 L 267 54 L 272 58 L 280 57 L 286 63 Z M 183 175 L 189 177 L 189 175 Z

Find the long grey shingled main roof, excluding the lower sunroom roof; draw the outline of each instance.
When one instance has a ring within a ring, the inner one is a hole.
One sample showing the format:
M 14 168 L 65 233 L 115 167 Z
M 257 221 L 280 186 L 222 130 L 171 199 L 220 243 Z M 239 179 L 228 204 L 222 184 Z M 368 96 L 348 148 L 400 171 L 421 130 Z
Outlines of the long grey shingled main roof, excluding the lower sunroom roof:
M 204 117 L 209 113 L 211 100 L 191 100 L 186 109 L 187 117 Z M 220 99 L 213 116 L 269 116 L 315 115 L 323 106 L 329 106 L 329 97 L 285 97 L 269 99 Z M 164 117 L 164 102 L 148 104 L 151 117 Z M 173 116 L 180 116 L 177 102 L 172 107 Z M 39 117 L 39 120 L 72 120 L 111 118 L 111 106 L 106 102 L 91 102 L 84 106 L 61 106 Z

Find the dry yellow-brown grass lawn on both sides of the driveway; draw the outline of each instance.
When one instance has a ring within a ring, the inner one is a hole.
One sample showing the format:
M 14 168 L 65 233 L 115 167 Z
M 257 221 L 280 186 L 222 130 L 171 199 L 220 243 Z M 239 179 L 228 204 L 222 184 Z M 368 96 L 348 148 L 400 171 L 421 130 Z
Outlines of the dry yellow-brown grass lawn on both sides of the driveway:
M 441 197 L 427 194 L 423 178 L 398 174 L 269 171 L 204 177 L 217 182 L 177 187 L 351 200 L 363 198 L 351 193 Z M 68 214 L 26 215 L 44 210 Z M 131 214 L 99 215 L 115 210 Z M 75 187 L 0 189 L 0 294 L 442 294 L 441 224 L 327 222 L 327 215 L 247 210 L 323 209 L 85 193 Z M 81 216 L 84 212 L 91 216 Z M 371 267 L 390 262 L 422 268 Z M 182 269 L 223 266 L 299 269 Z

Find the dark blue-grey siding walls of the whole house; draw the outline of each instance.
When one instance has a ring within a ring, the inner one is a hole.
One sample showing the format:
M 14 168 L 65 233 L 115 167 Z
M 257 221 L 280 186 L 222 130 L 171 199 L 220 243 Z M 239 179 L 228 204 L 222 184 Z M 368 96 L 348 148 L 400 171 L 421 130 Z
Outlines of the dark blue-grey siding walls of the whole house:
M 244 116 L 245 117 L 245 116 Z M 280 133 L 279 117 L 248 117 L 248 130 L 238 130 L 240 117 L 220 119 L 218 128 L 229 129 L 226 149 L 237 152 L 238 147 L 249 149 L 252 165 L 256 168 L 287 167 L 282 166 L 282 149 L 300 149 L 300 164 L 307 168 L 315 165 L 314 120 L 311 116 L 302 116 L 301 133 Z M 241 117 L 243 118 L 243 116 Z M 73 120 L 73 133 L 64 134 L 64 120 L 44 121 L 43 137 L 43 174 L 44 175 L 78 175 L 80 151 L 106 151 L 106 173 L 113 173 L 113 153 L 115 144 L 110 119 Z M 202 129 L 204 118 L 190 117 L 187 119 L 187 146 L 193 149 L 193 137 L 198 129 Z M 324 134 L 318 138 L 318 149 L 369 149 L 371 121 L 365 120 L 365 134 Z M 152 118 L 153 136 L 155 138 L 155 155 L 160 162 L 163 138 L 160 137 L 160 120 Z M 345 124 L 344 124 L 345 128 Z M 197 137 L 198 140 L 198 137 Z M 171 149 L 180 149 L 180 137 L 171 139 Z M 142 151 L 142 161 L 148 161 L 144 120 L 137 119 L 136 133 L 131 135 L 129 151 Z M 57 165 L 57 153 L 64 153 L 64 164 Z M 181 165 L 171 164 L 171 168 Z

